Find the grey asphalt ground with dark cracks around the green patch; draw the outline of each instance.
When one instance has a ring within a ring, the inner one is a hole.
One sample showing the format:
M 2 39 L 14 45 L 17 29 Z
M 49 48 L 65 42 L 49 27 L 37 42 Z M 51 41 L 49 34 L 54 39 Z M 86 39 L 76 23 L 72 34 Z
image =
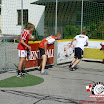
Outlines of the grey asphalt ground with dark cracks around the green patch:
M 31 75 L 44 78 L 44 82 L 29 87 L 0 88 L 0 104 L 79 104 L 79 101 L 96 101 L 89 98 L 91 92 L 86 91 L 86 86 L 104 82 L 104 64 L 82 61 L 76 71 L 70 71 L 68 65 L 48 67 L 46 71 L 49 75 L 40 75 L 38 70 L 29 71 Z M 14 75 L 15 72 L 2 73 L 0 80 Z

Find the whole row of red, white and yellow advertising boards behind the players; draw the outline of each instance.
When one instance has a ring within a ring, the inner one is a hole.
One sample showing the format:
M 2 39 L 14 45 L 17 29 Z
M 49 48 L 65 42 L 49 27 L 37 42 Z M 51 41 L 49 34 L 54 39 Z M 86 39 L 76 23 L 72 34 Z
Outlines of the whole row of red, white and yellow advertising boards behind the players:
M 40 65 L 41 57 L 39 52 L 39 43 L 40 41 L 36 42 L 29 42 L 32 50 L 28 52 L 28 56 L 26 58 L 26 68 L 37 67 Z M 74 49 L 76 41 L 73 45 L 69 48 L 71 43 L 71 39 L 69 40 L 58 40 L 57 41 L 57 55 L 55 55 L 56 63 L 66 63 L 72 61 L 74 58 Z M 101 50 L 102 46 L 104 45 L 104 40 L 89 40 L 88 47 L 84 49 L 83 58 L 85 59 L 95 59 L 95 60 L 103 60 L 104 59 L 104 50 Z M 47 64 L 54 63 L 54 44 L 51 45 L 48 50 L 48 61 Z

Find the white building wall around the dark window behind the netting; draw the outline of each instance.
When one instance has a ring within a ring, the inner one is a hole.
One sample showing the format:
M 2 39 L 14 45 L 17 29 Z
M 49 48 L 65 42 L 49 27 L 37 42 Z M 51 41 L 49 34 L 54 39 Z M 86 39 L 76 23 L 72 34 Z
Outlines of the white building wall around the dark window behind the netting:
M 44 35 L 44 10 L 45 6 L 30 4 L 36 0 L 24 0 L 23 9 L 28 9 L 28 22 L 33 23 L 39 35 Z M 21 26 L 18 25 L 17 10 L 21 9 L 21 0 L 2 1 L 2 34 L 19 35 Z

